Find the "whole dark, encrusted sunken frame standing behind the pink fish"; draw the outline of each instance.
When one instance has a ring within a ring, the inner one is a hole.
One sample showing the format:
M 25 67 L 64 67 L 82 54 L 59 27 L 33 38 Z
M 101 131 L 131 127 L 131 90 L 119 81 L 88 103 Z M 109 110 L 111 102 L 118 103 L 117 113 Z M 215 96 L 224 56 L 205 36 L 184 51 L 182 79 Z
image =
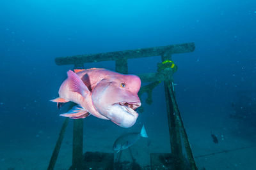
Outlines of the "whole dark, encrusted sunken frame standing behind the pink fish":
M 83 67 L 83 64 L 86 62 L 115 60 L 116 72 L 127 74 L 127 59 L 161 56 L 163 63 L 166 61 L 172 62 L 173 54 L 193 52 L 194 50 L 195 43 L 183 43 L 178 45 L 156 46 L 152 48 L 138 48 L 136 50 L 124 50 L 118 52 L 97 53 L 89 55 L 74 55 L 70 57 L 57 57 L 55 62 L 58 66 L 72 64 L 75 68 L 77 68 Z M 150 162 L 152 166 L 154 162 L 159 162 L 159 160 L 156 159 L 160 159 L 161 157 L 166 157 L 166 155 L 171 154 L 172 157 L 170 156 L 170 158 L 175 158 L 175 169 L 184 169 L 184 166 L 187 164 L 186 158 L 182 154 L 181 140 L 183 139 L 188 157 L 187 162 L 189 162 L 189 168 L 197 169 L 195 159 L 193 157 L 193 152 L 191 150 L 191 146 L 189 145 L 186 129 L 184 128 L 184 124 L 182 122 L 179 108 L 175 99 L 175 93 L 173 90 L 173 72 L 175 72 L 173 67 L 163 67 L 162 69 L 157 69 L 157 73 L 145 73 L 138 75 L 142 82 L 152 82 L 151 87 L 150 84 L 145 87 L 141 87 L 141 92 L 139 92 L 139 95 L 141 95 L 143 92 L 147 92 L 147 103 L 149 104 L 152 103 L 152 99 L 150 99 L 152 89 L 154 89 L 154 87 L 159 84 L 159 81 L 164 81 L 172 153 L 150 153 Z M 66 118 L 65 122 L 63 123 L 60 136 L 54 148 L 54 152 L 52 153 L 51 161 L 47 169 L 54 169 L 67 124 L 68 118 Z M 84 166 L 86 165 L 84 165 L 83 162 L 83 119 L 74 120 L 72 155 L 72 166 L 70 169 L 84 169 Z

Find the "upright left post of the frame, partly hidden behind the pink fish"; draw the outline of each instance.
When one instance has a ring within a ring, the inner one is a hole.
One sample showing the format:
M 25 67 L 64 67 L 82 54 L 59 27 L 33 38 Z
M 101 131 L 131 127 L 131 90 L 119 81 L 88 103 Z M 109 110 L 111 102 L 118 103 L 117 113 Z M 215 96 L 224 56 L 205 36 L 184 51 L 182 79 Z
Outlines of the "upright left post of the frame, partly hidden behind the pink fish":
M 75 68 L 83 67 L 83 64 L 77 63 Z M 73 125 L 73 153 L 71 169 L 80 170 L 83 164 L 83 118 L 74 119 Z

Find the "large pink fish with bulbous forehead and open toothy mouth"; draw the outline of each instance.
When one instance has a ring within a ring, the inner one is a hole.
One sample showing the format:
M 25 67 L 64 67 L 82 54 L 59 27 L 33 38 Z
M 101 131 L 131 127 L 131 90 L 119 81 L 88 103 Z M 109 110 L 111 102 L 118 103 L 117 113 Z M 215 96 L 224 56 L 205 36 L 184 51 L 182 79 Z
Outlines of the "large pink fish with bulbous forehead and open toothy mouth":
M 138 92 L 141 81 L 138 76 L 120 74 L 107 69 L 69 70 L 63 81 L 59 96 L 51 101 L 59 107 L 61 103 L 77 103 L 63 117 L 86 118 L 90 114 L 97 118 L 111 120 L 120 127 L 135 124 L 141 106 Z

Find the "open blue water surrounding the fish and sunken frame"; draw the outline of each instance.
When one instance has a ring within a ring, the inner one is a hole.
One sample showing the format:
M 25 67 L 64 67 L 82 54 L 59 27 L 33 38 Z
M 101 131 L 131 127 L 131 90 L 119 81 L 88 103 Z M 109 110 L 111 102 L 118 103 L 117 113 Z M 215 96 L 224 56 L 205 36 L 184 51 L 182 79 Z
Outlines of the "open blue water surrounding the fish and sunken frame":
M 72 65 L 57 66 L 56 57 L 179 43 L 195 42 L 196 46 L 194 52 L 172 56 L 179 66 L 174 74 L 175 93 L 194 155 L 255 143 L 254 0 L 3 0 L 0 16 L 0 169 L 47 167 L 64 120 L 49 99 L 58 96 L 66 72 L 73 69 Z M 160 61 L 159 56 L 129 60 L 129 73 L 154 72 Z M 115 63 L 89 63 L 84 67 L 115 70 Z M 246 101 L 239 101 L 241 93 L 247 96 Z M 152 105 L 146 104 L 145 98 L 141 99 L 145 111 L 131 129 L 97 118 L 85 120 L 84 126 L 90 131 L 85 138 L 90 136 L 94 142 L 84 151 L 102 148 L 111 152 L 118 134 L 140 131 L 145 124 L 148 136 L 151 133 L 155 139 L 151 151 L 170 152 L 163 83 L 154 89 Z M 239 112 L 239 108 L 246 110 Z M 230 118 L 234 111 L 242 118 Z M 104 134 L 109 142 L 101 147 L 94 137 L 108 128 Z M 211 131 L 218 136 L 218 145 L 212 143 Z M 65 139 L 70 143 L 71 125 L 67 133 Z M 163 148 L 161 140 L 166 143 Z M 66 155 L 72 154 L 72 145 L 66 148 Z M 196 163 L 206 169 L 256 168 L 249 159 L 255 155 L 255 148 L 233 153 L 237 157 L 220 154 L 196 159 Z M 61 159 L 58 161 L 61 164 Z M 56 169 L 70 166 L 60 164 Z

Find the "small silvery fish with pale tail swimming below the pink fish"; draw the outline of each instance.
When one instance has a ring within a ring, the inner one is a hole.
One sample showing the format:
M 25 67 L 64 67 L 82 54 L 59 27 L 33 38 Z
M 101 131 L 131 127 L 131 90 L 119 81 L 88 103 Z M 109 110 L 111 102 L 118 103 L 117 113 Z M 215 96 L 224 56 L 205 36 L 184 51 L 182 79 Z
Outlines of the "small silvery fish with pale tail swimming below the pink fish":
M 117 153 L 120 152 L 120 150 L 125 150 L 134 145 L 141 137 L 148 138 L 144 125 L 139 133 L 127 133 L 118 137 L 113 145 L 113 150 L 117 151 Z

